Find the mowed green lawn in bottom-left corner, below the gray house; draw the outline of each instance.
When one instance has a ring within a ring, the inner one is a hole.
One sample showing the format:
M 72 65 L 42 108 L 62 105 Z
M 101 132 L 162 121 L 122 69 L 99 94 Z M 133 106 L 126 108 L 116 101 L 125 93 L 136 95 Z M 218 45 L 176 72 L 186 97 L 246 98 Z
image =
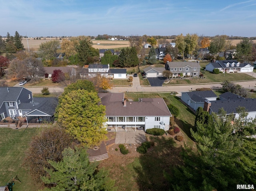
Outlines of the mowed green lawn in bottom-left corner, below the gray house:
M 22 164 L 31 138 L 37 133 L 37 128 L 26 130 L 24 128 L 19 130 L 0 128 L 0 186 L 6 185 L 12 177 L 17 175 L 21 183 L 15 183 L 14 191 L 38 190 L 38 186 Z

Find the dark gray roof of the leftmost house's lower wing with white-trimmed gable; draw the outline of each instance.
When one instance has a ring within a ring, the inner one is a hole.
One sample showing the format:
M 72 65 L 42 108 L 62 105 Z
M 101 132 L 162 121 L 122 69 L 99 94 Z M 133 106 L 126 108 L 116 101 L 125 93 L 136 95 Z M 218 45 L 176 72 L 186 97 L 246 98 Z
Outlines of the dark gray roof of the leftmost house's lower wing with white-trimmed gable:
M 53 116 L 55 113 L 55 108 L 58 104 L 58 98 L 50 97 L 50 98 L 42 98 L 42 97 L 35 97 L 34 102 L 31 103 L 20 103 L 19 109 L 30 109 L 30 111 L 26 114 L 29 115 L 31 112 L 38 110 L 49 116 Z

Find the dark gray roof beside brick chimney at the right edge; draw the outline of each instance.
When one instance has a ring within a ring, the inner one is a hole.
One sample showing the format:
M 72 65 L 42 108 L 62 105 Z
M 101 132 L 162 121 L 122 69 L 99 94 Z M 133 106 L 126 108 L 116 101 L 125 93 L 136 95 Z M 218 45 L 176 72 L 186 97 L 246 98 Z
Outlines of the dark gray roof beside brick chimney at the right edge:
M 234 100 L 216 100 L 211 101 L 210 110 L 212 112 L 218 113 L 220 108 L 223 108 L 227 114 L 237 113 L 236 108 L 238 106 L 245 107 L 247 112 L 256 111 L 256 99 L 244 98 L 244 99 L 234 99 Z

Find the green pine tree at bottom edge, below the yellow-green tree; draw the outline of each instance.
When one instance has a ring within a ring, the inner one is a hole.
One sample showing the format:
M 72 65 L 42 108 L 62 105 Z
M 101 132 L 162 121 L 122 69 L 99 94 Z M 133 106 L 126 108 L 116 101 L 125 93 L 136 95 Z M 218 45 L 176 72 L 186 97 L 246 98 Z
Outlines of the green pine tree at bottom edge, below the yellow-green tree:
M 85 149 L 66 148 L 62 155 L 61 161 L 48 161 L 53 169 L 46 169 L 49 177 L 42 177 L 50 187 L 45 191 L 116 191 L 108 171 L 98 169 L 96 162 L 90 163 Z

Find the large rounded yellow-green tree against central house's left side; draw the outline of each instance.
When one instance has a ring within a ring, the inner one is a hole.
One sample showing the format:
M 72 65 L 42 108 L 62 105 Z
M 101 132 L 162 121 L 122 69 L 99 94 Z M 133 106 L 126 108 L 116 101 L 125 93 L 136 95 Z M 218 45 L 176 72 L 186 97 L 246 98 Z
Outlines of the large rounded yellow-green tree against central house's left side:
M 99 104 L 97 93 L 86 90 L 71 91 L 62 96 L 58 108 L 58 122 L 83 146 L 98 146 L 106 139 L 105 106 Z

